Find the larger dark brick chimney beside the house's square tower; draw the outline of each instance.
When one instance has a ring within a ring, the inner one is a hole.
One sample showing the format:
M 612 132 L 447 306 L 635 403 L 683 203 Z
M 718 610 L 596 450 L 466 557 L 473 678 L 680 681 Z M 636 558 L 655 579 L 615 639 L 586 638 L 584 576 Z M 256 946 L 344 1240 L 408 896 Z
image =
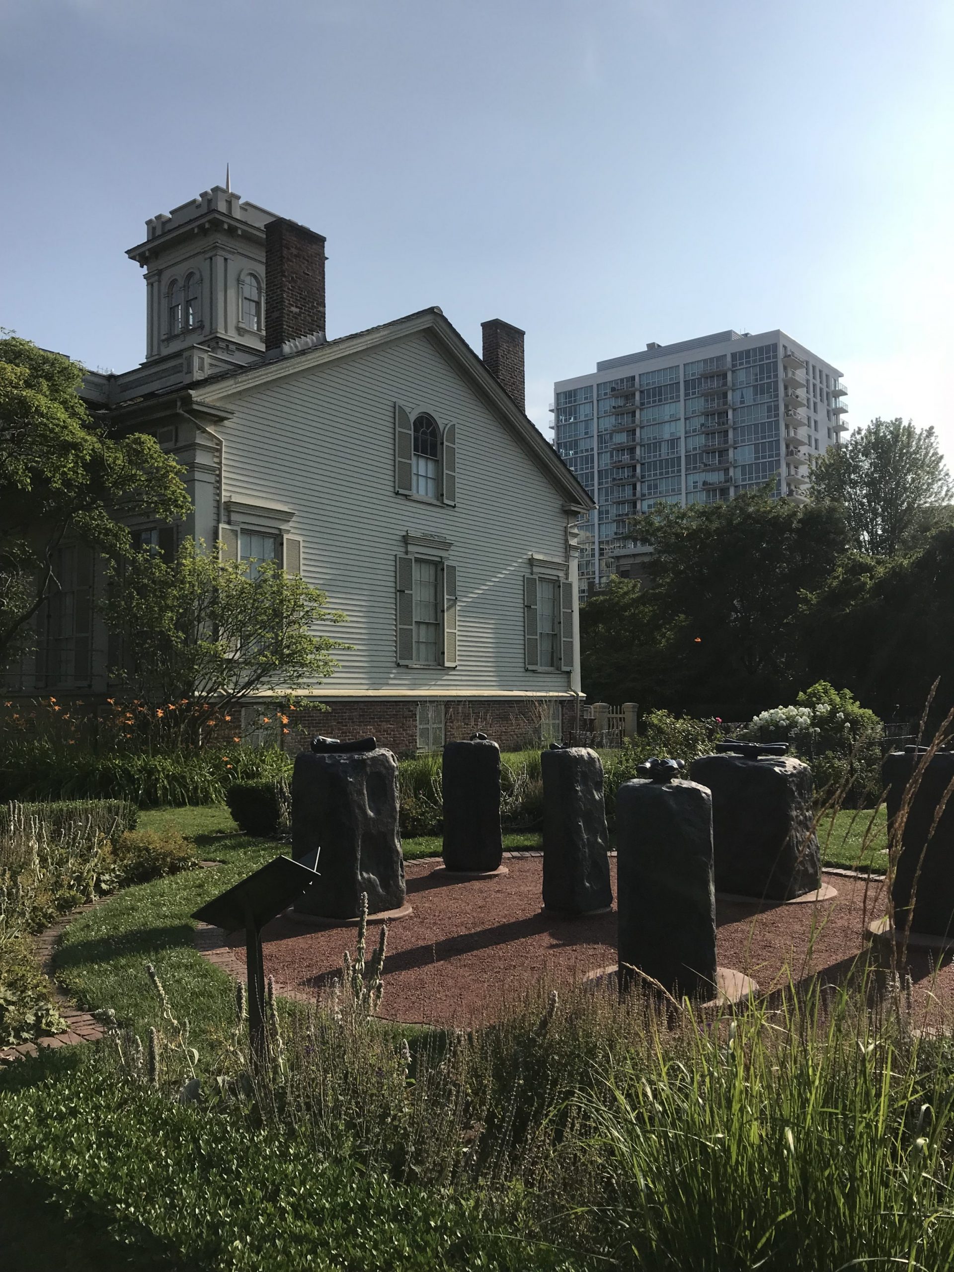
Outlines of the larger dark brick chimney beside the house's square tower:
M 324 235 L 284 216 L 265 226 L 265 349 L 324 335 Z

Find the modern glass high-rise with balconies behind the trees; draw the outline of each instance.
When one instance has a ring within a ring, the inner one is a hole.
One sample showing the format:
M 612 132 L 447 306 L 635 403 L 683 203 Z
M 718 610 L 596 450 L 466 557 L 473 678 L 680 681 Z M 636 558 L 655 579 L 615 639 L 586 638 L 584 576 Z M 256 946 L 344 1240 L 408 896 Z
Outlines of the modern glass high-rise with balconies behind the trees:
M 801 501 L 809 464 L 847 427 L 841 371 L 782 331 L 650 343 L 553 389 L 553 444 L 597 501 L 580 519 L 581 599 L 639 575 L 637 513 L 772 477 L 776 497 Z

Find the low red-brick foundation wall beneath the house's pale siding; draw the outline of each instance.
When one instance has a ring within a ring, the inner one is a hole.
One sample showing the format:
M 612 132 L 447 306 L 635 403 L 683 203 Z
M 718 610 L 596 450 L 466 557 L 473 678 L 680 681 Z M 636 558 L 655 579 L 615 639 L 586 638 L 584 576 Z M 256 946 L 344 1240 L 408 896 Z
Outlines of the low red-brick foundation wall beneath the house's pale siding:
M 373 734 L 382 747 L 396 754 L 417 750 L 417 702 L 354 700 L 327 703 L 328 710 L 303 706 L 291 716 L 291 731 L 285 738 L 290 753 L 304 749 L 315 734 L 328 738 L 364 738 Z M 576 717 L 576 705 L 560 700 L 561 733 L 569 736 Z M 472 733 L 486 733 L 502 750 L 537 747 L 541 742 L 543 703 L 536 700 L 457 698 L 444 703 L 444 740 L 459 742 Z

